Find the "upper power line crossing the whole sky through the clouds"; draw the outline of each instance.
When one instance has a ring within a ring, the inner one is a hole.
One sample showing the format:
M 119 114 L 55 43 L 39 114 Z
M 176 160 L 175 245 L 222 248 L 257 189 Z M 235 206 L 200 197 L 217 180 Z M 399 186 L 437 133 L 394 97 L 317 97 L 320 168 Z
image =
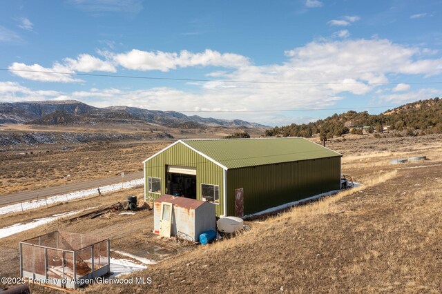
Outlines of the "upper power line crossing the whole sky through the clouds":
M 184 79 L 175 77 L 146 77 L 146 76 L 135 76 L 135 75 L 102 75 L 102 74 L 90 74 L 81 72 L 52 72 L 45 70 L 12 70 L 8 68 L 0 68 L 2 71 L 9 72 L 35 72 L 53 75 L 77 75 L 77 76 L 87 76 L 87 77 L 117 77 L 124 79 L 152 79 L 152 80 L 164 80 L 164 81 L 215 81 L 220 83 L 244 83 L 244 84 L 286 84 L 286 85 L 397 85 L 397 84 L 442 84 L 442 81 L 414 81 L 414 82 L 399 82 L 399 83 L 325 83 L 325 82 L 309 82 L 309 81 L 240 81 L 233 79 Z

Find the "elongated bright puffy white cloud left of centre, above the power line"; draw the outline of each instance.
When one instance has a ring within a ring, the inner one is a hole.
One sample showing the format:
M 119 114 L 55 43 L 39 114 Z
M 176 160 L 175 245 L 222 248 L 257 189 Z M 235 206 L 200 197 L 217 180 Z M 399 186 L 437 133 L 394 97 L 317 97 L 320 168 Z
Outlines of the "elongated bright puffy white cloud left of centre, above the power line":
M 125 53 L 111 54 L 111 56 L 116 63 L 124 68 L 131 70 L 161 70 L 162 72 L 189 66 L 240 68 L 249 64 L 249 59 L 242 55 L 220 53 L 209 49 L 200 53 L 187 50 L 177 53 L 133 49 Z

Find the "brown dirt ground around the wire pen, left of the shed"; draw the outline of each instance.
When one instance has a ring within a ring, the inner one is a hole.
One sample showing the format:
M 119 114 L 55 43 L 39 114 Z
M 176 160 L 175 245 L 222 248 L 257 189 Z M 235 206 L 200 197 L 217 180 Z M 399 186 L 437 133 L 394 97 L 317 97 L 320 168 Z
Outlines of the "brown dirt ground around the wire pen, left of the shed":
M 12 224 L 31 222 L 32 219 L 49 217 L 57 213 L 73 210 L 84 210 L 91 207 L 105 207 L 117 202 L 122 202 L 127 195 L 137 195 L 139 204 L 142 204 L 143 189 L 133 188 L 115 193 L 104 194 L 101 197 L 89 197 L 73 202 L 54 204 L 52 206 L 26 210 L 24 213 L 14 213 L 0 216 L 1 227 Z M 111 211 L 90 219 L 84 217 L 75 219 L 66 217 L 58 221 L 33 228 L 0 239 L 0 277 L 19 277 L 19 242 L 52 231 L 66 231 L 71 233 L 85 233 L 111 239 L 111 250 L 131 253 L 147 259 L 160 261 L 170 258 L 182 251 L 191 250 L 193 245 L 184 242 L 176 242 L 175 239 L 159 239 L 151 233 L 153 230 L 153 210 L 143 209 L 135 212 L 135 215 L 119 215 L 121 210 Z M 86 211 L 84 212 L 86 213 Z M 131 259 L 111 253 L 112 257 Z M 135 263 L 139 263 L 134 261 Z M 0 288 L 6 286 L 0 283 Z M 59 293 L 41 286 L 32 285 L 32 293 Z

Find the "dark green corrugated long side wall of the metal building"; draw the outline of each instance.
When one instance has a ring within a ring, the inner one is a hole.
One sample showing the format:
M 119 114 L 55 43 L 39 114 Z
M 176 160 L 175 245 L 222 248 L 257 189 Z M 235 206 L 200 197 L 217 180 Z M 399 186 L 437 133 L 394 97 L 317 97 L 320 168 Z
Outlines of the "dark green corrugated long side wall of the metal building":
M 340 188 L 340 157 L 227 170 L 227 215 L 244 188 L 244 215 Z

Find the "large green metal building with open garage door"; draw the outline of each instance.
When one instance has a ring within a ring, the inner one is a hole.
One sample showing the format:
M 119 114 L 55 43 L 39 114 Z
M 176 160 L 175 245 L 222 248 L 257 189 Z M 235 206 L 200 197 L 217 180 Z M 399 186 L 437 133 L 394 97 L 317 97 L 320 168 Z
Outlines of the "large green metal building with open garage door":
M 304 138 L 179 140 L 144 164 L 144 197 L 164 194 L 238 216 L 340 188 L 340 155 Z

